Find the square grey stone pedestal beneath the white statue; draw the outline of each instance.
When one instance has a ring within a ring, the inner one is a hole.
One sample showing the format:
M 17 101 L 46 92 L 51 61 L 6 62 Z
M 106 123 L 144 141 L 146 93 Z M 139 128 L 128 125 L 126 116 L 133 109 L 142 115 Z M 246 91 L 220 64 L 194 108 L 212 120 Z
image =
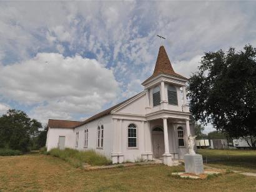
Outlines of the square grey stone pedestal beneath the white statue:
M 186 154 L 186 155 L 184 155 L 184 161 L 185 161 L 185 172 L 186 173 L 194 173 L 195 175 L 204 173 L 204 164 L 203 164 L 202 155 Z

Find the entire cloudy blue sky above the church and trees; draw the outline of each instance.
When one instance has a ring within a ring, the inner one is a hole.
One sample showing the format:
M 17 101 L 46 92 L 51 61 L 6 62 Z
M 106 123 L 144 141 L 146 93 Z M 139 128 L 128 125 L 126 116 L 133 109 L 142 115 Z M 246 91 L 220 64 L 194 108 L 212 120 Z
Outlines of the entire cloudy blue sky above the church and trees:
M 204 52 L 256 44 L 252 1 L 0 4 L 0 113 L 17 108 L 43 123 L 83 120 L 140 92 L 157 34 L 186 77 Z

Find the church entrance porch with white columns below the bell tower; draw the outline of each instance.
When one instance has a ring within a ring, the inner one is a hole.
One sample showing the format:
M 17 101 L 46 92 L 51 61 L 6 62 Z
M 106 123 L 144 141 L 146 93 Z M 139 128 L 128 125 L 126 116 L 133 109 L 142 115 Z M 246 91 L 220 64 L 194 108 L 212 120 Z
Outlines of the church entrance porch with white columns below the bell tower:
M 175 164 L 174 160 L 183 159 L 187 153 L 187 135 L 190 134 L 189 120 L 163 117 L 149 123 L 152 157 L 169 166 Z

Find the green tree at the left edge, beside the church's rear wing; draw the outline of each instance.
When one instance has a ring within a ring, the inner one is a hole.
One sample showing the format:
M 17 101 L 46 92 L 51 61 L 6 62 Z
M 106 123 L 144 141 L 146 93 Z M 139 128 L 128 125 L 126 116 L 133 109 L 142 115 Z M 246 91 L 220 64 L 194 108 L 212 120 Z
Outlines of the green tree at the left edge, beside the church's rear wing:
M 0 148 L 29 151 L 41 123 L 21 110 L 10 109 L 0 117 Z

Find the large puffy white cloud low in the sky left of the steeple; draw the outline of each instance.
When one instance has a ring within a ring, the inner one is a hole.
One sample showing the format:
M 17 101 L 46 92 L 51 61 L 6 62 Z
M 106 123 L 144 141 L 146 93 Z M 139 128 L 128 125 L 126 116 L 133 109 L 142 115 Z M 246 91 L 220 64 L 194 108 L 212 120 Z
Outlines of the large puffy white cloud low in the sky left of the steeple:
M 5 98 L 36 104 L 33 113 L 54 116 L 51 118 L 96 112 L 116 98 L 119 89 L 112 71 L 97 60 L 55 53 L 0 65 L 0 82 L 0 94 Z

